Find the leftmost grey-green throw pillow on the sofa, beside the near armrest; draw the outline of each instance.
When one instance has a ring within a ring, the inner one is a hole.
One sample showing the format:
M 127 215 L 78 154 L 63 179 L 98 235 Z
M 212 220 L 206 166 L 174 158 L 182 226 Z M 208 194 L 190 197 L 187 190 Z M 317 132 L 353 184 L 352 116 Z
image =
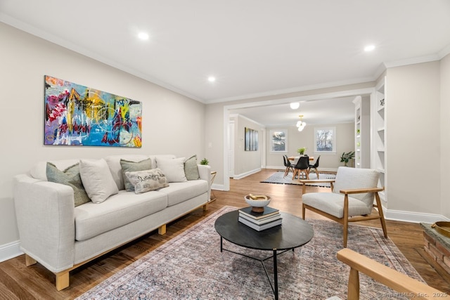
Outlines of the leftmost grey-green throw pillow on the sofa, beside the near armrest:
M 51 162 L 47 162 L 46 176 L 48 181 L 69 185 L 73 189 L 75 207 L 91 201 L 84 190 L 82 178 L 79 176 L 79 164 L 74 164 L 61 171 Z

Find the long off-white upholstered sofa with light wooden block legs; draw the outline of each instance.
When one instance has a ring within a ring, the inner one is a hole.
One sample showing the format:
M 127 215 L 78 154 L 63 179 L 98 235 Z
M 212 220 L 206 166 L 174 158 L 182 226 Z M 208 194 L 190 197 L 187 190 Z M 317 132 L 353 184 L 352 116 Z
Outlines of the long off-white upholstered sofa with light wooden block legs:
M 140 162 L 149 158 L 152 169 L 158 167 L 158 159 L 176 159 L 174 155 L 105 157 L 118 193 L 101 203 L 77 207 L 74 189 L 46 180 L 47 162 L 37 163 L 29 174 L 15 176 L 15 212 L 27 266 L 41 263 L 55 273 L 56 288 L 64 289 L 69 286 L 70 270 L 157 228 L 165 234 L 170 221 L 200 207 L 207 209 L 209 166 L 198 165 L 198 180 L 169 181 L 165 188 L 139 194 L 124 190 L 120 159 Z M 63 170 L 77 162 L 80 159 L 52 163 Z

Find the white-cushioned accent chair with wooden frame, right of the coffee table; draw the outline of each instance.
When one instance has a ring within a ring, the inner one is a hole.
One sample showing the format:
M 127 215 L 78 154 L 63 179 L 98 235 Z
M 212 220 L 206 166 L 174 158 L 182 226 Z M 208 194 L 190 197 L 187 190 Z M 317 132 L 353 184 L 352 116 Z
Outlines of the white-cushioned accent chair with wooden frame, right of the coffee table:
M 331 193 L 307 193 L 302 195 L 302 217 L 305 210 L 309 209 L 332 219 L 343 226 L 343 245 L 347 247 L 348 223 L 380 219 L 383 233 L 387 237 L 387 228 L 383 207 L 381 206 L 379 192 L 384 188 L 378 188 L 380 174 L 373 169 L 355 169 L 339 167 L 335 179 L 325 179 L 321 182 L 333 183 Z M 301 180 L 305 185 L 309 182 Z M 373 203 L 375 197 L 376 204 Z M 373 214 L 373 207 L 377 213 Z

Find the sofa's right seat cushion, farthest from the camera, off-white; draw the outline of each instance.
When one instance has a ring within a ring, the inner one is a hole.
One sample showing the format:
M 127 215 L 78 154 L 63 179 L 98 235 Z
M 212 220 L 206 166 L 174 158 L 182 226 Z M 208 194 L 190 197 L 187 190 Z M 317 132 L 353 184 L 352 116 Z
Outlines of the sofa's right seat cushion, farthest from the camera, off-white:
M 167 206 L 170 207 L 207 193 L 209 187 L 210 185 L 208 185 L 207 181 L 199 179 L 195 181 L 170 183 L 167 188 L 161 188 L 158 191 L 167 195 Z

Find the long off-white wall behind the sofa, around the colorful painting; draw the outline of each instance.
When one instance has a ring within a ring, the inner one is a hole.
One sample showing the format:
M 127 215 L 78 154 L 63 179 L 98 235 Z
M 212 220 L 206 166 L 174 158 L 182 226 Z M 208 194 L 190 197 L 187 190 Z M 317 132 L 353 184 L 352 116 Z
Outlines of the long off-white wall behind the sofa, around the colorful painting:
M 203 103 L 1 22 L 0 40 L 0 260 L 2 250 L 19 239 L 12 178 L 25 173 L 35 162 L 122 153 L 204 156 Z M 142 148 L 44 146 L 45 74 L 141 101 Z

